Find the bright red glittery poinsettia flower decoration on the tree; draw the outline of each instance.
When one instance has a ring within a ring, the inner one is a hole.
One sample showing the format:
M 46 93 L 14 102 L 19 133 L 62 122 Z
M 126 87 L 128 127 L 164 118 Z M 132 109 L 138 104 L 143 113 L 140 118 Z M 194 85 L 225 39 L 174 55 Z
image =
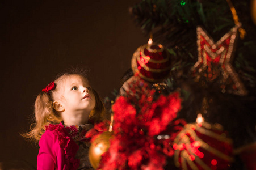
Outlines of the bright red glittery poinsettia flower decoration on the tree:
M 174 154 L 171 143 L 185 124 L 175 120 L 180 107 L 178 92 L 158 94 L 135 75 L 127 94 L 112 105 L 113 135 L 98 169 L 163 169 Z

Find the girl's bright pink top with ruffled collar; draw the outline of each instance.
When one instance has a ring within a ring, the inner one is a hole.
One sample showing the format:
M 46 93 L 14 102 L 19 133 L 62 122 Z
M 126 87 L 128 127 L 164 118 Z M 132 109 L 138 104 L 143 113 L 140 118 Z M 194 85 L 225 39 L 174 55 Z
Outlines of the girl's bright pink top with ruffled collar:
M 73 131 L 73 129 L 71 130 Z M 84 137 L 84 134 L 82 135 Z M 72 139 L 70 129 L 67 130 L 62 123 L 46 126 L 46 131 L 39 141 L 39 146 L 37 169 L 65 170 L 79 167 L 80 160 L 75 158 L 79 146 Z

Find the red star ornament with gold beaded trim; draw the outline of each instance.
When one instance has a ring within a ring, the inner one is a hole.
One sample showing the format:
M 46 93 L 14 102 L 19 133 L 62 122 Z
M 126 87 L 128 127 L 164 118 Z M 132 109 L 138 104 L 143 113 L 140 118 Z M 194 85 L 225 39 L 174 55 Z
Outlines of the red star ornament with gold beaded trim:
M 244 85 L 230 64 L 239 28 L 233 27 L 216 43 L 201 27 L 197 28 L 198 62 L 191 68 L 196 82 L 209 86 L 209 83 L 217 80 L 223 93 L 247 94 Z

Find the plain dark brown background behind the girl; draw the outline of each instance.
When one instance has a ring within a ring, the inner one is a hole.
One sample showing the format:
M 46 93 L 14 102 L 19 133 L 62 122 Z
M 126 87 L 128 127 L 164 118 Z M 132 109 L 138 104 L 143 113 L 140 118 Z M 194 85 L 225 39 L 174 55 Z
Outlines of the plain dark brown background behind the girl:
M 0 162 L 36 165 L 39 148 L 19 133 L 31 124 L 37 94 L 60 71 L 90 69 L 91 84 L 102 97 L 120 87 L 133 52 L 148 39 L 128 12 L 136 2 L 0 1 Z

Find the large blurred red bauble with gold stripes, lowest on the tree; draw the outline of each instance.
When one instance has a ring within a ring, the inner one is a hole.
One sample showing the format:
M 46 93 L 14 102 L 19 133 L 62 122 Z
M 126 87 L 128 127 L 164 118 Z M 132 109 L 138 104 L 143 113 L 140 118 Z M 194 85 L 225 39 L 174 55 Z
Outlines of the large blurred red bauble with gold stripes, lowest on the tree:
M 233 161 L 232 140 L 220 124 L 187 124 L 174 140 L 174 162 L 181 169 L 228 169 Z

